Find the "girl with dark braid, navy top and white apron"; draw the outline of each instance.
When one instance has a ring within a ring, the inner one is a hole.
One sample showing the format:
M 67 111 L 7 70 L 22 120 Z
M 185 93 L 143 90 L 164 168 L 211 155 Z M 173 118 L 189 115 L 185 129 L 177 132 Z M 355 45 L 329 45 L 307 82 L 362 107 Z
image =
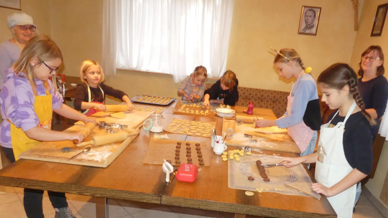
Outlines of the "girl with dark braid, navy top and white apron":
M 318 152 L 304 157 L 284 157 L 284 166 L 316 163 L 312 190 L 329 200 L 338 218 L 351 218 L 361 193 L 359 182 L 372 170 L 372 131 L 376 121 L 365 110 L 358 78 L 348 64 L 333 64 L 318 77 L 322 101 L 337 109 L 320 128 Z

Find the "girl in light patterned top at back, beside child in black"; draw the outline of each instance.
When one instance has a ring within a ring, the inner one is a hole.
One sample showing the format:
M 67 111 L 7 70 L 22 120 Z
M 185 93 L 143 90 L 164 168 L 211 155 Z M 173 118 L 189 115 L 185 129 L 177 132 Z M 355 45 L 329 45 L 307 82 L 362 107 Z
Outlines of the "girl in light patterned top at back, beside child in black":
M 182 100 L 200 101 L 205 91 L 205 81 L 208 78 L 208 71 L 204 66 L 197 66 L 190 76 L 186 77 L 178 88 L 178 96 Z

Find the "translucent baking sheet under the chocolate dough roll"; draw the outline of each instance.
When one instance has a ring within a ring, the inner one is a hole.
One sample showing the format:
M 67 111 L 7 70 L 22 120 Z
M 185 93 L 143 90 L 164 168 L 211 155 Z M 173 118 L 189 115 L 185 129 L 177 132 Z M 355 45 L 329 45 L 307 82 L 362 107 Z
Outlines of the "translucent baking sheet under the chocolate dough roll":
M 253 192 L 256 192 L 256 188 L 268 188 L 269 190 L 263 190 L 263 192 L 306 196 L 285 187 L 284 184 L 287 184 L 313 196 L 320 197 L 320 194 L 317 194 L 311 189 L 312 180 L 301 164 L 291 168 L 286 168 L 285 166 L 264 168 L 265 173 L 270 179 L 270 182 L 265 182 L 260 176 L 256 161 L 260 160 L 263 164 L 274 164 L 279 163 L 281 159 L 282 157 L 264 154 L 244 155 L 240 157 L 240 161 L 229 159 L 228 187 L 231 189 L 242 189 Z M 255 180 L 248 180 L 248 176 L 253 176 Z

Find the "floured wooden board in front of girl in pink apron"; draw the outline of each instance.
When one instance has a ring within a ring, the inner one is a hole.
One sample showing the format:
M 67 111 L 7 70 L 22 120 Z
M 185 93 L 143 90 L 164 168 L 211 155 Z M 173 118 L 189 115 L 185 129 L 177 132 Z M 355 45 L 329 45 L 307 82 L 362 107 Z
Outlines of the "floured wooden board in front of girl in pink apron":
M 223 119 L 222 133 L 226 133 L 230 121 Z M 253 135 L 254 140 L 257 142 L 251 142 L 250 138 L 245 138 L 244 134 L 249 133 Z M 251 124 L 236 125 L 234 128 L 234 134 L 232 137 L 227 137 L 226 145 L 272 150 L 272 151 L 285 151 L 300 154 L 300 149 L 294 140 L 287 133 L 275 133 L 266 134 L 255 130 L 251 127 Z

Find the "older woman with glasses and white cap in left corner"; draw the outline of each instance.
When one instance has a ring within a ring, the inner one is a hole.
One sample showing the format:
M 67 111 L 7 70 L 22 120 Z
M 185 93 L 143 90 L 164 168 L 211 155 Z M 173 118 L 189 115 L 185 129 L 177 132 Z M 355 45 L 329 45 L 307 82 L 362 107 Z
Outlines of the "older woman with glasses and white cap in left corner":
M 4 83 L 4 71 L 19 59 L 24 45 L 38 33 L 32 17 L 26 13 L 14 13 L 8 16 L 7 26 L 13 38 L 0 44 L 0 89 Z

